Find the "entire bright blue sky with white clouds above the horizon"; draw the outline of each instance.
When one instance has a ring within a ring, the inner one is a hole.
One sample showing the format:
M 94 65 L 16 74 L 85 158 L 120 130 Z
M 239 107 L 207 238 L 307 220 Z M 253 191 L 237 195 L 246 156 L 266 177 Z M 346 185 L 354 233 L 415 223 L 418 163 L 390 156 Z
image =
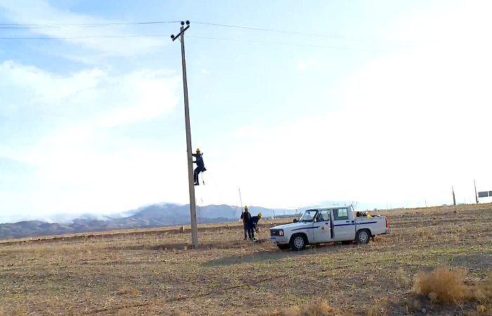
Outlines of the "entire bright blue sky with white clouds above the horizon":
M 423 206 L 450 203 L 451 185 L 458 202 L 473 199 L 474 179 L 478 190 L 492 190 L 490 8 L 0 0 L 0 23 L 192 21 L 185 44 L 193 149 L 208 169 L 198 204 L 238 204 L 240 187 L 249 205 Z M 0 39 L 4 218 L 189 201 L 181 51 L 169 37 L 179 26 L 0 29 L 0 37 L 163 35 Z

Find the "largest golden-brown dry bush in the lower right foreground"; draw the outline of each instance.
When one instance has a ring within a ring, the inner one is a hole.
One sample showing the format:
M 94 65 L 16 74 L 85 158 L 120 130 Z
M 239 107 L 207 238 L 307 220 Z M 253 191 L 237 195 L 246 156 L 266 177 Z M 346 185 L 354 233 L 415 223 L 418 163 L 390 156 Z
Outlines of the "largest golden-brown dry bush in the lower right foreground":
M 460 303 L 470 299 L 465 285 L 466 270 L 446 266 L 432 272 L 422 272 L 415 279 L 414 291 L 430 298 L 433 303 Z

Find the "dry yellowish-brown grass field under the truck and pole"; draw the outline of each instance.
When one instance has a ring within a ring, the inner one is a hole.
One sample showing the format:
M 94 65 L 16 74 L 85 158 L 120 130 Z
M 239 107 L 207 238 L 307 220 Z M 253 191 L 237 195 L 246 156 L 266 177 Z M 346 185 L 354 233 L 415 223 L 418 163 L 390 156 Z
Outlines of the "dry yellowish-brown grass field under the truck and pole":
M 492 315 L 491 204 L 386 215 L 368 245 L 300 253 L 237 224 L 198 249 L 177 228 L 0 242 L 0 315 Z

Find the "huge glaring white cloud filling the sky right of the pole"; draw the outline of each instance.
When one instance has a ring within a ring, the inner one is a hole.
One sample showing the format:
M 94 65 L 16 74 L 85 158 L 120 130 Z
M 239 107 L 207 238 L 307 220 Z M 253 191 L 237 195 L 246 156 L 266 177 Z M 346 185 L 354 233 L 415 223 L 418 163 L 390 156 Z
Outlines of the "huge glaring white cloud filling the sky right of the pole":
M 465 27 L 466 21 L 455 23 L 456 12 L 427 20 L 429 28 L 422 32 L 441 30 L 446 38 Z M 339 89 L 339 112 L 256 128 L 254 136 L 261 137 L 254 141 L 237 138 L 231 152 L 247 154 L 240 163 L 223 166 L 235 170 L 237 180 L 224 172 L 214 174 L 217 182 L 241 187 L 243 201 L 264 206 L 326 199 L 449 204 L 451 185 L 460 201 L 474 197 L 474 179 L 488 190 L 492 47 L 483 39 L 492 25 L 479 20 L 460 34 L 481 37 L 473 44 L 483 49 L 431 46 L 384 54 L 347 75 Z M 413 26 L 407 25 L 408 32 Z

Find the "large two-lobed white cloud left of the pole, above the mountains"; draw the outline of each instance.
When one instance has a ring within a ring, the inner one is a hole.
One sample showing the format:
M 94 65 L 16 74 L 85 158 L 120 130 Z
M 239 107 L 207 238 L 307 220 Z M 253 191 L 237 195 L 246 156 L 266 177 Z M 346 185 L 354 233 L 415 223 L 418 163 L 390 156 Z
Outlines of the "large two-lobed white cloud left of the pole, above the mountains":
M 122 211 L 165 198 L 163 192 L 182 201 L 186 159 L 107 132 L 173 110 L 180 80 L 167 70 L 115 76 L 93 69 L 61 76 L 11 61 L 0 64 L 0 117 L 30 126 L 29 113 L 44 123 L 42 129 L 32 127 L 29 138 L 0 145 L 0 158 L 36 169 L 35 178 L 23 178 L 23 192 L 0 192 L 2 204 L 35 213 Z M 168 177 L 173 180 L 162 180 Z M 27 199 L 20 201 L 23 195 Z

